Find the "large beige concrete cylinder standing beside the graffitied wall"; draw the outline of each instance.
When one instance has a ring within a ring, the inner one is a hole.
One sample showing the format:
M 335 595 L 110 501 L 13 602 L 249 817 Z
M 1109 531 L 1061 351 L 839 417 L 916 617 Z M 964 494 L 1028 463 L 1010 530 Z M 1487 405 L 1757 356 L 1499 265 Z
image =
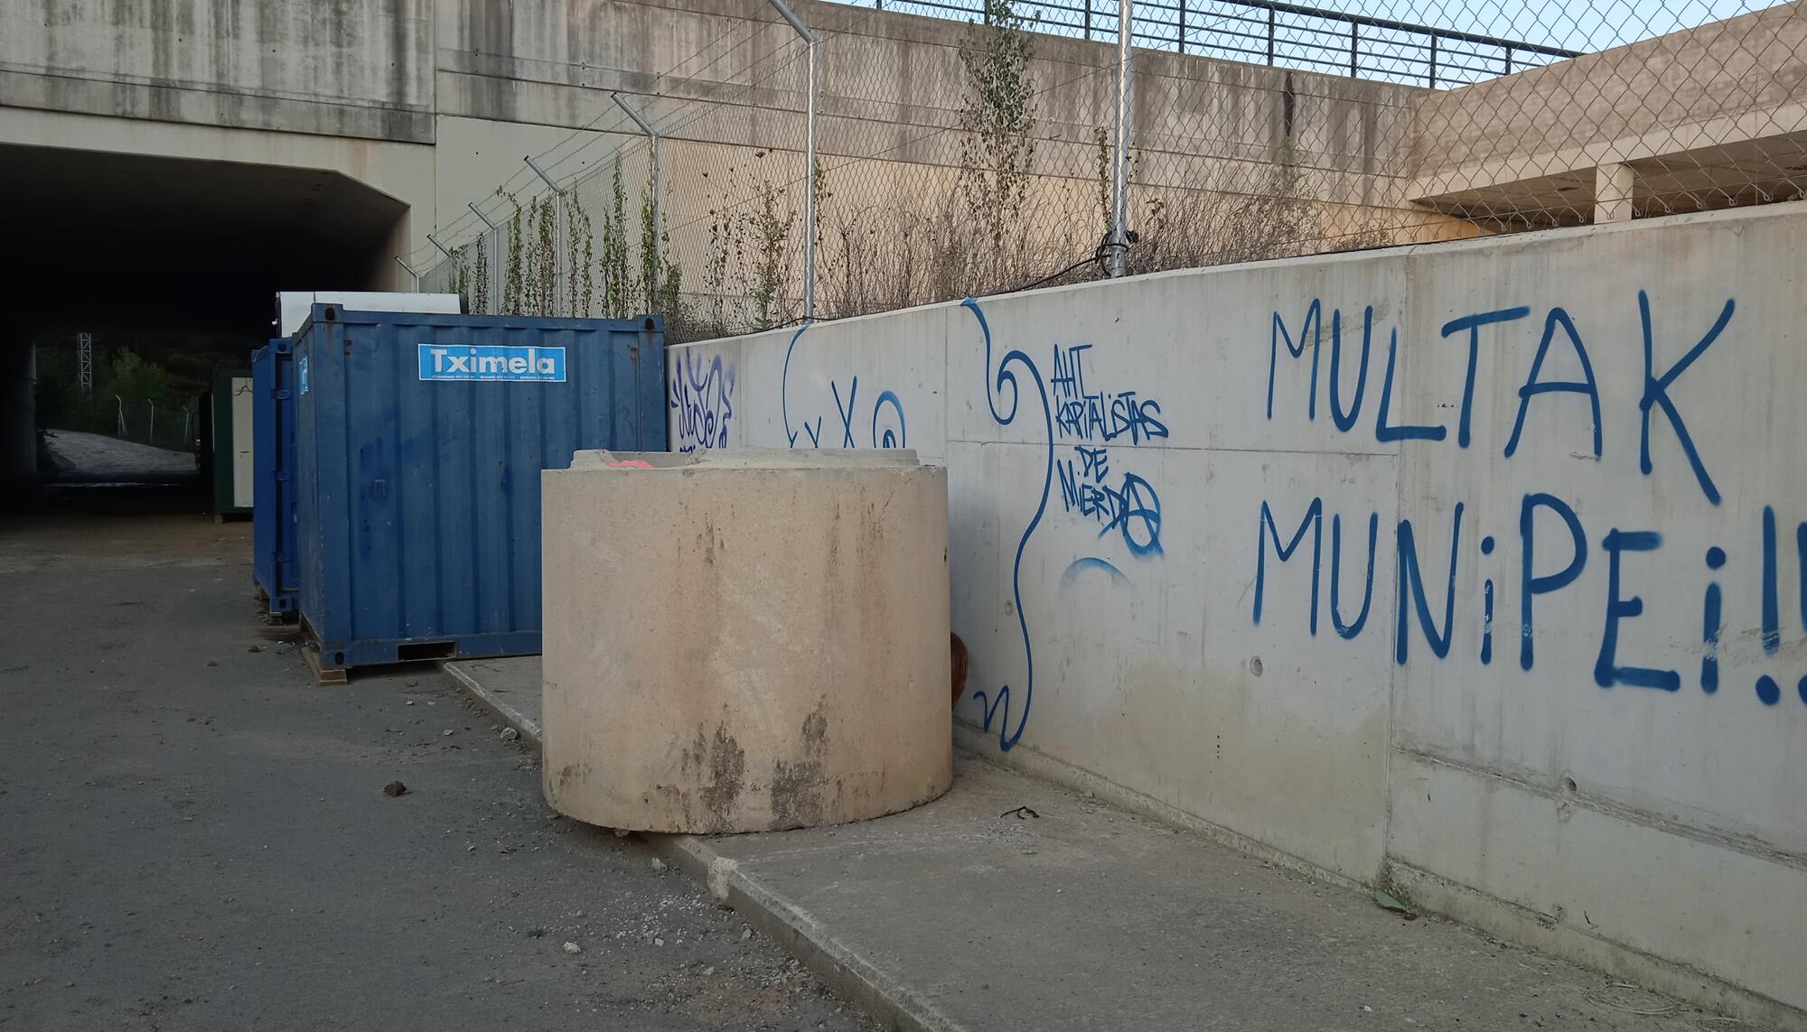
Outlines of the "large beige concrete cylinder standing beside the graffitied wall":
M 580 451 L 540 476 L 555 810 L 766 832 L 947 790 L 943 467 L 914 451 Z

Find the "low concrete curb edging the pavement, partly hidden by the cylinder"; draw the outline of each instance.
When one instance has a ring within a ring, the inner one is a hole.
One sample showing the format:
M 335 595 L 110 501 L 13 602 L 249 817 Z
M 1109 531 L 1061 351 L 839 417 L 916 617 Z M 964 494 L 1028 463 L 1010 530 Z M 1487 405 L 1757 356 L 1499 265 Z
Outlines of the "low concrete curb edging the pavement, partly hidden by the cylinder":
M 538 722 L 486 691 L 482 684 L 450 662 L 441 664 L 439 669 L 472 702 L 519 731 L 522 742 L 531 743 L 535 751 L 542 747 Z M 708 839 L 660 834 L 640 834 L 640 837 L 652 848 L 654 855 L 699 879 L 710 895 L 732 906 L 746 924 L 788 949 L 847 1003 L 904 1032 L 969 1032 L 965 1025 L 941 1014 L 922 994 L 837 942 L 806 909 L 750 879 L 739 870 L 739 864 L 719 855 Z

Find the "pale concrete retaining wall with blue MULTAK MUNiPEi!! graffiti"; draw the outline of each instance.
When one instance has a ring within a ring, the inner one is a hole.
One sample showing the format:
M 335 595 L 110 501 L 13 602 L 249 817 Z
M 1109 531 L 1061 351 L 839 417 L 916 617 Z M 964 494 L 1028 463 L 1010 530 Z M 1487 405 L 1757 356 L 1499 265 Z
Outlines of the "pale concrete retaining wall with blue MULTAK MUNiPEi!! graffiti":
M 672 447 L 945 460 L 960 718 L 1005 761 L 1798 1019 L 1803 231 L 1717 213 L 672 348 Z

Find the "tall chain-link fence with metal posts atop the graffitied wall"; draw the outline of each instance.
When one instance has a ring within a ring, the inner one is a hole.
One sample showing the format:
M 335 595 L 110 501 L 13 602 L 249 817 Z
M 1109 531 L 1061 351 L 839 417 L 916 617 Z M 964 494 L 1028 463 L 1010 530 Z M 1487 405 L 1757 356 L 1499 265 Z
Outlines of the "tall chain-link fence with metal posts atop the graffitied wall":
M 1120 2 L 744 0 L 613 97 L 609 153 L 435 236 L 423 287 L 696 339 L 1807 182 L 1798 2 Z

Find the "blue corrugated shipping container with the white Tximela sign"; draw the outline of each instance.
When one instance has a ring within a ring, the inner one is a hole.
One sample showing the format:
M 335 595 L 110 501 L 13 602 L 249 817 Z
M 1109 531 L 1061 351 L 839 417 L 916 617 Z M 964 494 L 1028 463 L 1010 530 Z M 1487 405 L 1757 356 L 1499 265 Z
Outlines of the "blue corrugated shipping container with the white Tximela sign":
M 325 666 L 540 651 L 540 471 L 665 449 L 658 318 L 314 305 L 295 336 L 300 612 Z

